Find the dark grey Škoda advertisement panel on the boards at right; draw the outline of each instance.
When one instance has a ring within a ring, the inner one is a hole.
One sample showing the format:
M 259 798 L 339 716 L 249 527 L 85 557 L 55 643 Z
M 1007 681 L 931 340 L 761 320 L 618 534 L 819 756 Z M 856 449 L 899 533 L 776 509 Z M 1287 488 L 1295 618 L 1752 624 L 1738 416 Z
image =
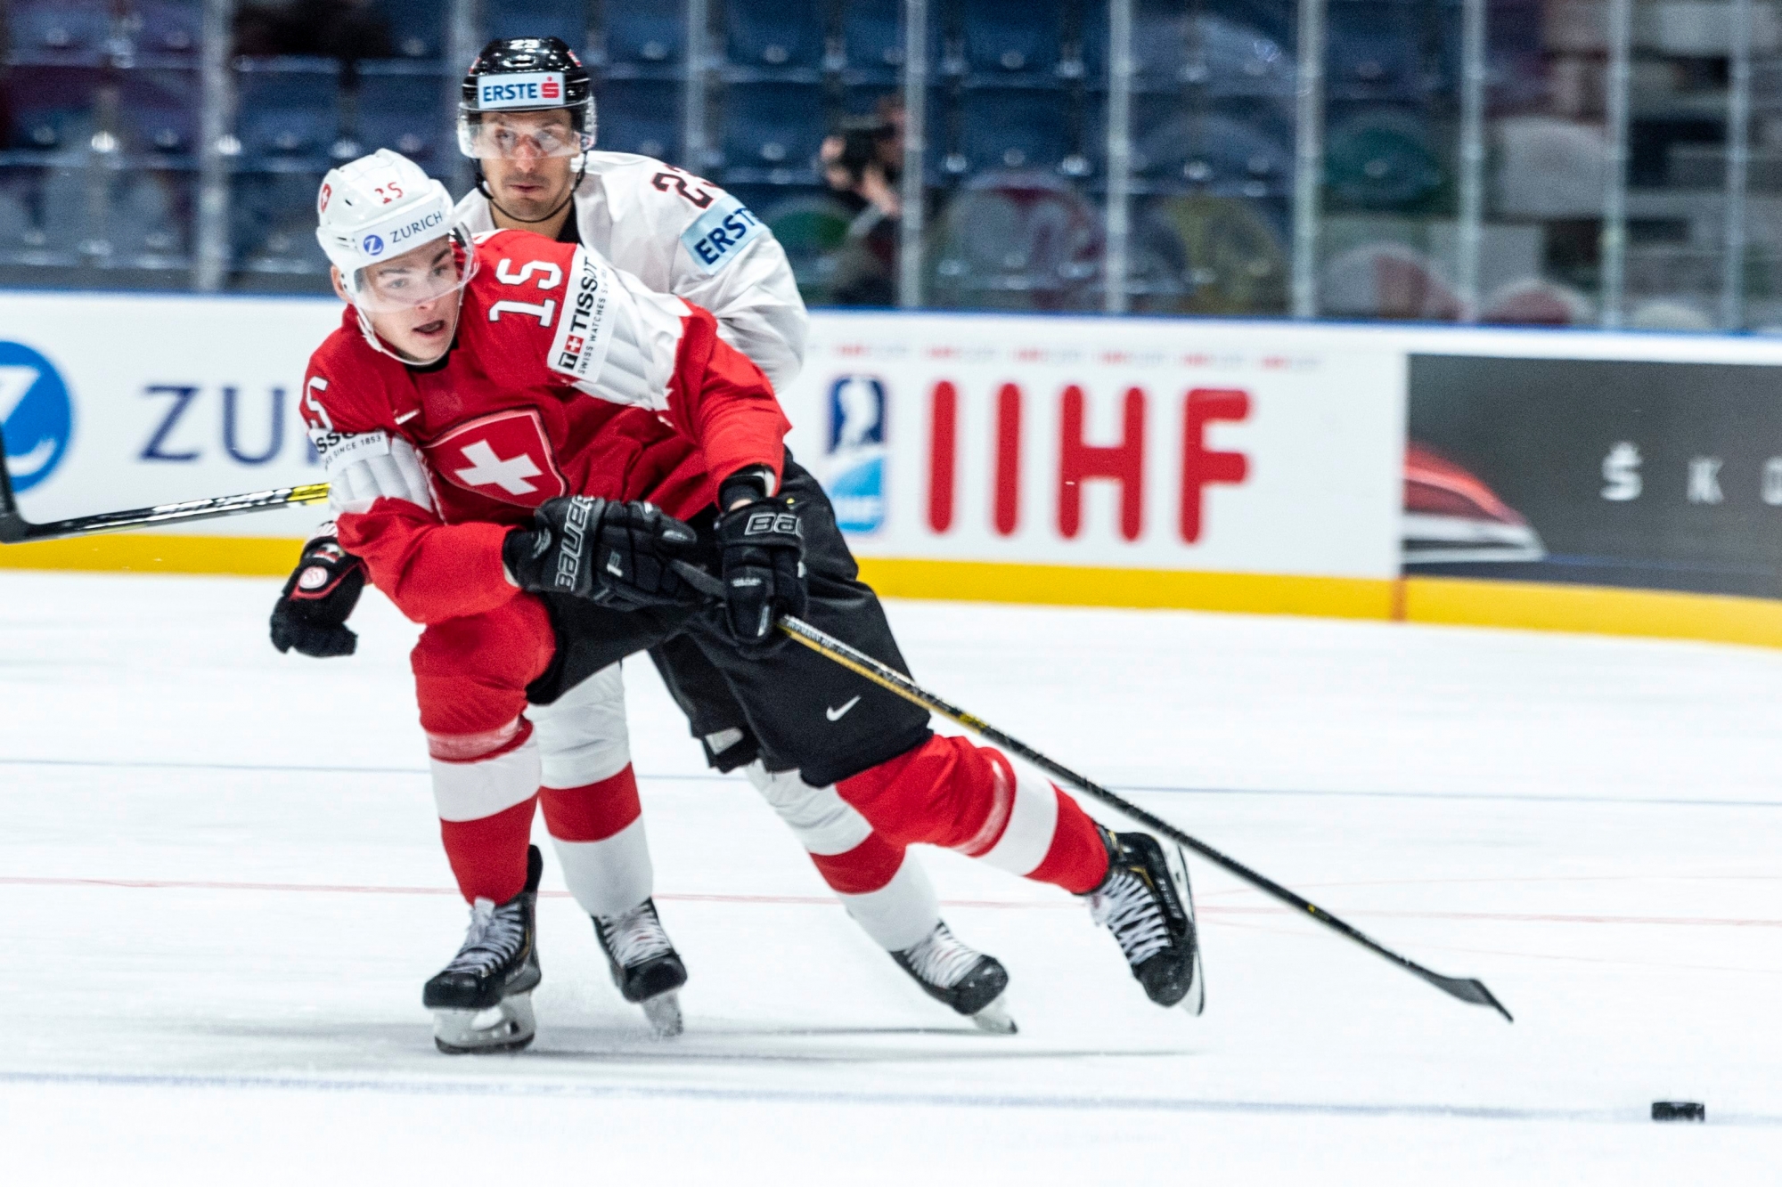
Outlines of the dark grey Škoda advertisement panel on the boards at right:
M 1782 597 L 1782 367 L 1411 355 L 1404 570 Z

